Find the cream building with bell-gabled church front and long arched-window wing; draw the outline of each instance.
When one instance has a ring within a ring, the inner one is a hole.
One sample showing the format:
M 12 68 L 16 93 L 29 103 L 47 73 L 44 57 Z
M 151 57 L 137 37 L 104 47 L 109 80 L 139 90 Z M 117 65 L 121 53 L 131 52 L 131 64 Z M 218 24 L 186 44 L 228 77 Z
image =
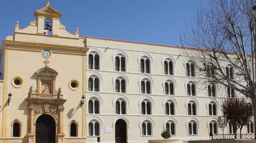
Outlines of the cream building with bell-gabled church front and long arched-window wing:
M 25 28 L 16 22 L 1 45 L 0 142 L 148 142 L 162 139 L 164 129 L 183 140 L 222 133 L 216 120 L 226 93 L 214 85 L 199 90 L 205 85 L 196 63 L 181 47 L 72 34 L 49 2 L 34 16 Z

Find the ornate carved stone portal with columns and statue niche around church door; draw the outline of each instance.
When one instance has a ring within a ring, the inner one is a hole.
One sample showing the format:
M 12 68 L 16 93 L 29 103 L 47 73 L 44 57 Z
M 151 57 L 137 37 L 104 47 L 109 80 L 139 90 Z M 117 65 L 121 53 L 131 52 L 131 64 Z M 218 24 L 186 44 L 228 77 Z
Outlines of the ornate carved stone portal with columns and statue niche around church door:
M 47 63 L 49 64 L 49 62 Z M 46 64 L 44 68 L 36 71 L 37 89 L 34 90 L 31 86 L 28 94 L 28 132 L 27 142 L 36 142 L 36 120 L 43 114 L 50 115 L 55 121 L 55 130 L 57 131 L 56 142 L 64 142 L 63 132 L 63 104 L 66 99 L 63 99 L 61 90 L 58 93 L 55 91 L 55 80 L 58 73 L 49 68 Z

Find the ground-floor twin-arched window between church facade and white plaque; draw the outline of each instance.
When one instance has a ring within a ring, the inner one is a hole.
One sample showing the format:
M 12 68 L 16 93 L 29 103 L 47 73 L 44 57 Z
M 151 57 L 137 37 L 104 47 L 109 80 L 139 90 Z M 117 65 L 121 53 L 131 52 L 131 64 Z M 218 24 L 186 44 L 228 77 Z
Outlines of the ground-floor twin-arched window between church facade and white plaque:
M 103 123 L 102 120 L 100 120 L 100 118 L 92 116 L 86 122 L 87 136 L 101 136 L 101 129 L 103 127 Z

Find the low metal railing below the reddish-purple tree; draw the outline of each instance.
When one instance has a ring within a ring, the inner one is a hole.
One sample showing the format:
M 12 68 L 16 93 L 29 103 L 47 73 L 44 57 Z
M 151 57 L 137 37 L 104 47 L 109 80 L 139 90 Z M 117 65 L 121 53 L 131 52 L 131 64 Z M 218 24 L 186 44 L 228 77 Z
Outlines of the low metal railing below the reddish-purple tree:
M 253 139 L 254 138 L 254 133 L 253 134 L 241 134 L 241 138 L 243 139 Z M 225 140 L 225 139 L 235 139 L 235 138 L 240 138 L 240 134 L 213 134 L 212 135 L 212 140 Z

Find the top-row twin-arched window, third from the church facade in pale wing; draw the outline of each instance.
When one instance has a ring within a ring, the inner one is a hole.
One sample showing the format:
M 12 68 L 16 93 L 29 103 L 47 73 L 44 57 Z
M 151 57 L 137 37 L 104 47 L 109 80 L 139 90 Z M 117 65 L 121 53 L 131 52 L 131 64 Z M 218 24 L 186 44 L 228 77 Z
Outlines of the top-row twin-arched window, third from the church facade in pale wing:
M 143 54 L 145 55 L 145 54 Z M 151 64 L 152 64 L 152 61 L 151 61 L 151 57 L 148 57 L 148 56 L 142 56 L 140 58 L 140 72 L 141 73 L 151 73 Z

